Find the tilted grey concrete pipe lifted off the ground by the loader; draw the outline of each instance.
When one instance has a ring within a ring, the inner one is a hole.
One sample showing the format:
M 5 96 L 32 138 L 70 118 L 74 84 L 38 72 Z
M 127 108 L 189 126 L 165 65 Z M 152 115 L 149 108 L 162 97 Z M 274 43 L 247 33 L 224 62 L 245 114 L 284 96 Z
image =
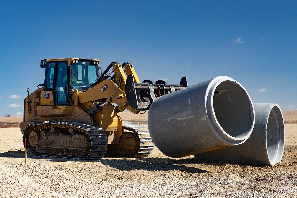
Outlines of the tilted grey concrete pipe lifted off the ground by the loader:
M 174 158 L 241 144 L 254 124 L 249 94 L 227 76 L 158 97 L 148 115 L 155 145 Z

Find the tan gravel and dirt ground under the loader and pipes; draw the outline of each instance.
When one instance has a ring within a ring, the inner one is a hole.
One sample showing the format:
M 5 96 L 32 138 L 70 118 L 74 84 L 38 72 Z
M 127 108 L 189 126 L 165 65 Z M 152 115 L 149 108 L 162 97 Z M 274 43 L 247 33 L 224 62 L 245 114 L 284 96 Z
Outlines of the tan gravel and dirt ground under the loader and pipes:
M 285 127 L 284 157 L 274 167 L 203 164 L 158 149 L 97 161 L 28 154 L 25 164 L 19 129 L 0 129 L 0 197 L 296 197 L 297 124 Z

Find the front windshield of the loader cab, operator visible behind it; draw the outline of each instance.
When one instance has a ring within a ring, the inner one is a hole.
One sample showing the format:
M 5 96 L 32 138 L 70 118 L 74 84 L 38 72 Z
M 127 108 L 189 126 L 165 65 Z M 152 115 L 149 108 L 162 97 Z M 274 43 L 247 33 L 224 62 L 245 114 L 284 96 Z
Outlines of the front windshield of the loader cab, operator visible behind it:
M 71 66 L 71 85 L 78 90 L 84 90 L 98 79 L 97 65 L 90 61 L 81 61 Z

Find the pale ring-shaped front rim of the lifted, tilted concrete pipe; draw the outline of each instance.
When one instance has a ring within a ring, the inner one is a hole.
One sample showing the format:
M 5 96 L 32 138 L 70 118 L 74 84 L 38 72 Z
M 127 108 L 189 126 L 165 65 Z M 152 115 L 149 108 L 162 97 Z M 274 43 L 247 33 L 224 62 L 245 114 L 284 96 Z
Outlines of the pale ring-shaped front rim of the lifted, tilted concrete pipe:
M 250 106 L 252 125 L 250 126 L 248 131 L 246 131 L 236 137 L 233 137 L 230 134 L 228 134 L 222 128 L 222 126 L 220 125 L 219 121 L 217 120 L 217 118 L 215 116 L 214 103 L 213 103 L 214 92 L 215 92 L 216 88 L 218 87 L 218 85 L 221 84 L 222 82 L 230 82 L 230 83 L 237 85 L 241 89 L 241 91 L 243 91 L 245 93 L 245 95 L 248 99 L 249 106 Z M 225 140 L 226 142 L 229 142 L 230 144 L 237 145 L 237 144 L 241 144 L 241 143 L 245 142 L 252 134 L 252 131 L 255 126 L 254 105 L 252 103 L 252 99 L 249 96 L 247 90 L 240 83 L 238 83 L 236 80 L 234 80 L 233 78 L 230 78 L 228 76 L 216 77 L 211 81 L 211 83 L 209 83 L 209 85 L 210 85 L 210 87 L 208 87 L 207 91 L 206 91 L 206 110 L 207 110 L 207 115 L 209 118 L 208 120 L 209 120 L 211 126 L 213 127 L 214 131 L 220 137 L 222 137 L 223 140 Z

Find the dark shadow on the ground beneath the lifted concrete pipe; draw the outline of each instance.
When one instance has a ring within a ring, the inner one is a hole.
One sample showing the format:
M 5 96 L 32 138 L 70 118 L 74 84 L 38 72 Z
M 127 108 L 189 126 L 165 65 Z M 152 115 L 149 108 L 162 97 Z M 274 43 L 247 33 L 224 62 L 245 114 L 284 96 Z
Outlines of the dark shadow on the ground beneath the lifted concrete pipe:
M 193 159 L 169 159 L 159 157 L 137 158 L 135 160 L 120 159 L 101 159 L 104 165 L 119 169 L 119 170 L 180 170 L 188 173 L 204 173 L 207 170 L 202 170 L 196 167 L 187 167 L 178 164 L 197 164 Z M 185 163 L 186 162 L 186 163 Z

